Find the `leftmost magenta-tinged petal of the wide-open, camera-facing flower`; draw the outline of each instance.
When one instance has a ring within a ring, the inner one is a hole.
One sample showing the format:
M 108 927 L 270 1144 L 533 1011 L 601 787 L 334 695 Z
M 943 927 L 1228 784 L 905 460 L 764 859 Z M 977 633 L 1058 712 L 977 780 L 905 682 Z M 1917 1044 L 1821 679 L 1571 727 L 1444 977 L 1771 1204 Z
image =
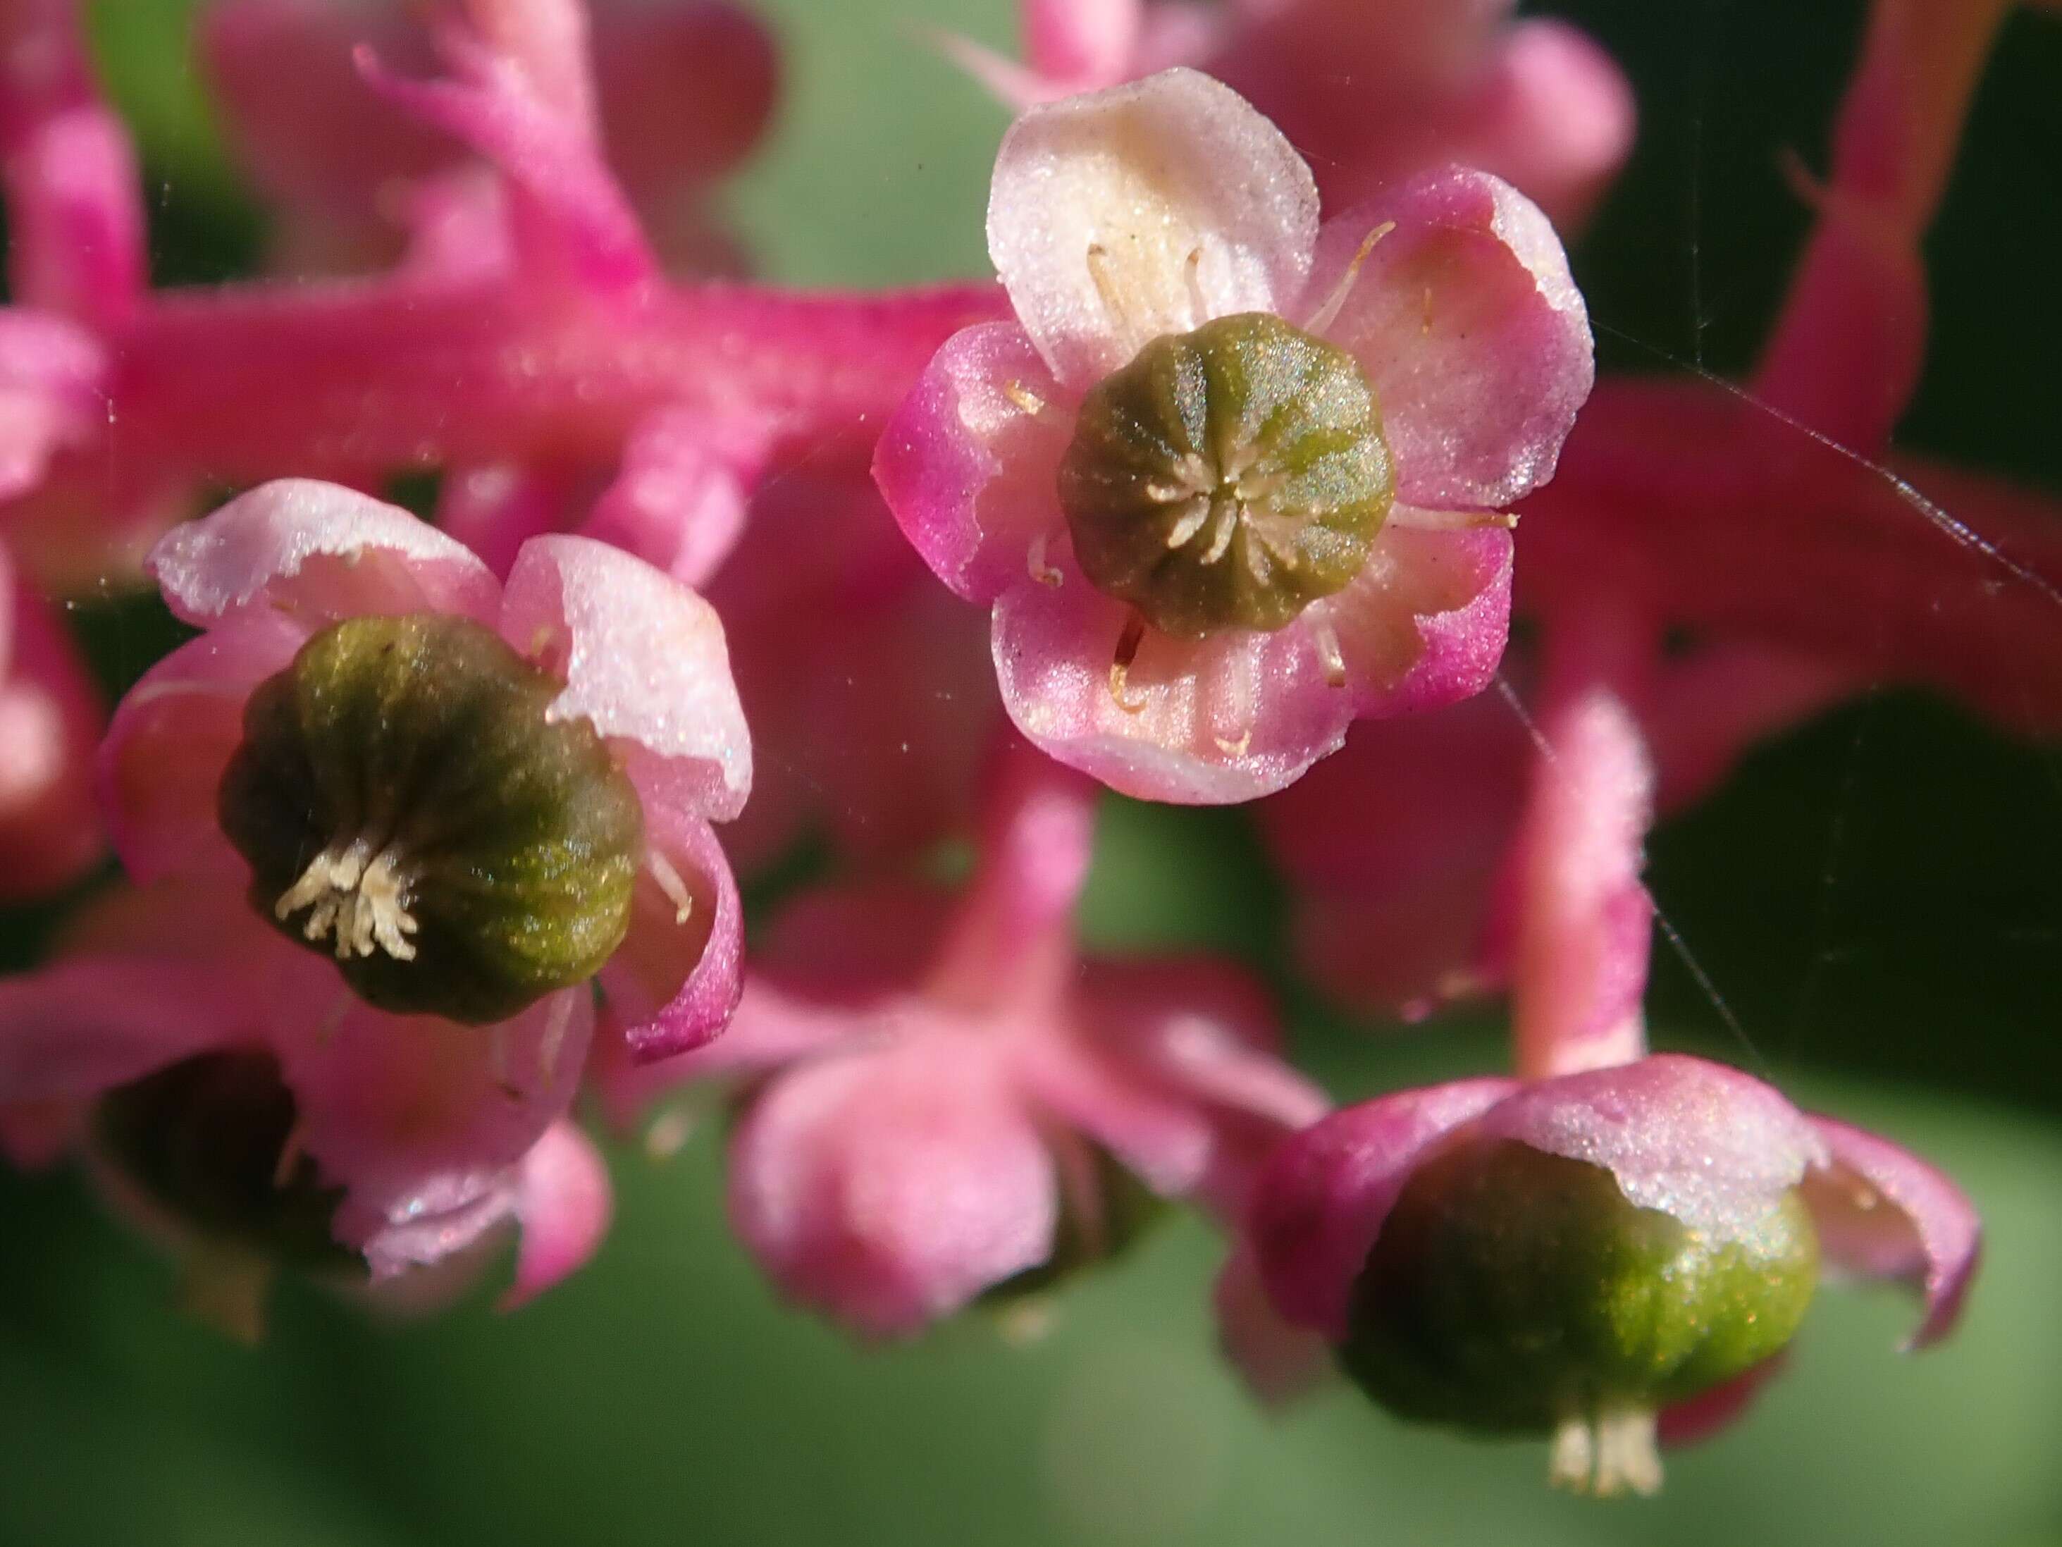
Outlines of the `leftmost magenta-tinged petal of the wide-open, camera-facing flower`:
M 903 534 L 946 586 L 990 602 L 1064 530 L 1054 493 L 1072 417 L 1027 413 L 1012 392 L 1062 392 L 1023 328 L 984 322 L 944 340 L 874 452 L 874 481 Z

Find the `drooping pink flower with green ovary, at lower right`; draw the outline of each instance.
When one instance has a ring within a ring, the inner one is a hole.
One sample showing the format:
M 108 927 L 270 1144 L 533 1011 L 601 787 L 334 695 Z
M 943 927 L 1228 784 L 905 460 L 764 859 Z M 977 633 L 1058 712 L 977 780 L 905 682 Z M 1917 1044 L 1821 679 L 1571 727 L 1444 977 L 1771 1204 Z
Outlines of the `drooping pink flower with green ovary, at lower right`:
M 1658 1423 L 1738 1411 L 1821 1264 L 1918 1289 L 1924 1347 L 1980 1248 L 1918 1157 L 1670 1054 L 1336 1112 L 1268 1161 L 1248 1227 L 1274 1310 L 1375 1401 L 1551 1434 L 1555 1481 L 1598 1493 L 1660 1485 Z

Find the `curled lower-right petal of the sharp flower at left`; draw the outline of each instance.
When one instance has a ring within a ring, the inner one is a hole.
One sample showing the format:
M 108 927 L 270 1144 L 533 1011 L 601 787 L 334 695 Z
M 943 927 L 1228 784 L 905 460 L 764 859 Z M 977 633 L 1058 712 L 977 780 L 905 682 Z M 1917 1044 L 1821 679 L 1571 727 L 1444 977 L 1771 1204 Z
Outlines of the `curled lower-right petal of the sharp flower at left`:
M 709 823 L 647 798 L 629 934 L 600 974 L 633 1056 L 668 1058 L 722 1031 L 738 1007 L 742 957 L 742 910 L 722 844 Z

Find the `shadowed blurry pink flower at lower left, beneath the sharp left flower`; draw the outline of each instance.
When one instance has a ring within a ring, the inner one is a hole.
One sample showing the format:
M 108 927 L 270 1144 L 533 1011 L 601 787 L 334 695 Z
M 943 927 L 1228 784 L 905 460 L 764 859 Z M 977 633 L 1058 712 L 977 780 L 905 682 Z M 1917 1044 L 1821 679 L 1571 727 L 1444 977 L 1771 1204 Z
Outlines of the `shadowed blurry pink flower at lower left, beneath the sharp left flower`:
M 555 994 L 491 1058 L 474 1027 L 355 998 L 229 887 L 124 887 L 0 980 L 0 1132 L 19 1159 L 76 1149 L 239 1335 L 278 1271 L 392 1293 L 509 1225 L 518 1304 L 606 1227 L 606 1172 L 563 1116 L 590 1025 Z

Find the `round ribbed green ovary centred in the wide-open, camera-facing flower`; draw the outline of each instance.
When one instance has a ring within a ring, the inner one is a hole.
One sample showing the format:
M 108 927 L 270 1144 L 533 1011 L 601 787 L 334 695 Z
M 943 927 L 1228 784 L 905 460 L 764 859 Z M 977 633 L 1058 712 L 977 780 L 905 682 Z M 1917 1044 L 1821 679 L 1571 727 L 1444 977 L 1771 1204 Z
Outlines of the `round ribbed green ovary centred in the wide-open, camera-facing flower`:
M 1080 404 L 1060 507 L 1155 629 L 1278 629 L 1353 582 L 1394 468 L 1353 355 L 1264 311 L 1155 338 Z

